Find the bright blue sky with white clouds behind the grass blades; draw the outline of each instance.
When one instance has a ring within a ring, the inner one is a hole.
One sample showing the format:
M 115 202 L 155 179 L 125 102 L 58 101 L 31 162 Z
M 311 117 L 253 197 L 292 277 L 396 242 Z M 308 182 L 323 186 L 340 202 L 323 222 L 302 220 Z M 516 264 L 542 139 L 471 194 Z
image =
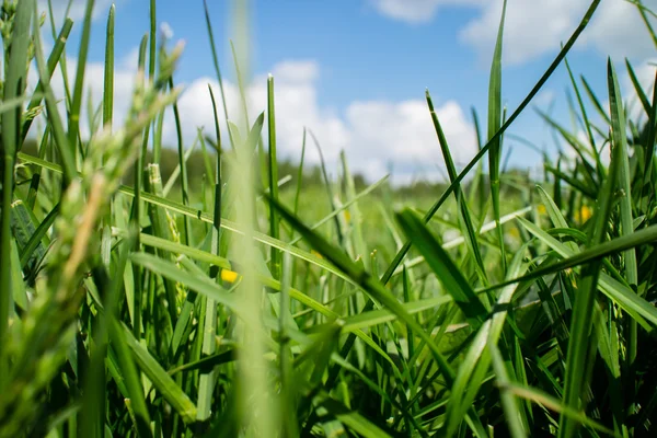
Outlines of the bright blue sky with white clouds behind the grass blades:
M 42 0 L 39 0 L 41 2 Z M 54 0 L 58 13 L 67 1 Z M 85 1 L 73 0 L 78 23 L 69 42 L 74 62 Z M 131 88 L 136 50 L 148 31 L 147 0 L 116 0 L 117 107 L 122 114 Z M 208 0 L 229 114 L 238 99 L 230 57 L 232 1 Z M 252 114 L 266 107 L 265 76 L 274 73 L 277 134 L 281 153 L 298 157 L 303 126 L 316 135 L 332 165 L 345 150 L 353 170 L 371 180 L 383 176 L 393 162 L 396 181 L 437 177 L 440 149 L 433 131 L 424 92 L 428 88 L 457 162 L 475 152 L 471 106 L 485 134 L 488 72 L 502 0 L 251 0 L 252 71 L 249 91 Z M 644 1 L 657 7 L 657 0 Z M 111 2 L 96 0 L 88 85 L 102 88 L 104 23 Z M 503 99 L 514 111 L 575 30 L 587 0 L 508 0 L 504 47 Z M 185 53 L 175 80 L 184 83 L 181 111 L 185 141 L 192 145 L 196 127 L 211 128 L 207 85 L 216 87 L 201 0 L 158 0 L 158 23 L 184 39 Z M 655 47 L 635 8 L 624 0 L 602 0 L 590 27 L 569 60 L 606 102 L 606 62 L 611 56 L 625 96 L 632 97 L 623 67 L 633 62 L 649 83 Z M 561 68 L 534 101 L 554 104 L 557 118 L 569 124 Z M 122 102 L 123 99 L 123 102 Z M 97 102 L 97 100 L 95 100 Z M 565 116 L 564 116 L 565 115 Z M 170 119 L 171 120 L 171 119 Z M 171 124 L 165 138 L 173 140 Z M 568 125 L 569 126 L 569 125 Z M 511 127 L 512 134 L 554 151 L 552 137 L 533 111 Z M 539 155 L 507 140 L 510 163 L 535 164 Z M 316 154 L 310 152 L 310 160 Z M 335 169 L 335 168 L 334 168 Z

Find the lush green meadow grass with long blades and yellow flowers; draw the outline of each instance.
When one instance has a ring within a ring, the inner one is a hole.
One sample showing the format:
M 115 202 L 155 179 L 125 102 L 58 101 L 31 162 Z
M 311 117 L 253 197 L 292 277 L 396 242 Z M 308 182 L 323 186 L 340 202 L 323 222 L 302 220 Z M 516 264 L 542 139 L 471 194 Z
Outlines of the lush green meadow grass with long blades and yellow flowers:
M 122 123 L 114 7 L 103 100 L 84 108 L 94 1 L 57 26 L 51 8 L 4 0 L 0 437 L 655 436 L 657 78 L 642 88 L 626 62 L 630 117 L 618 60 L 604 90 L 570 71 L 599 3 L 508 110 L 503 12 L 479 153 L 457 169 L 427 92 L 447 180 L 400 188 L 344 155 L 311 170 L 306 131 L 284 165 L 273 77 L 253 119 L 227 117 L 209 89 L 196 158 L 166 149 L 183 47 L 157 32 L 157 0 Z M 635 3 L 657 48 L 654 12 Z M 239 74 L 234 53 L 222 67 Z M 585 138 L 545 115 L 567 150 L 539 177 L 506 170 L 507 130 L 557 69 Z

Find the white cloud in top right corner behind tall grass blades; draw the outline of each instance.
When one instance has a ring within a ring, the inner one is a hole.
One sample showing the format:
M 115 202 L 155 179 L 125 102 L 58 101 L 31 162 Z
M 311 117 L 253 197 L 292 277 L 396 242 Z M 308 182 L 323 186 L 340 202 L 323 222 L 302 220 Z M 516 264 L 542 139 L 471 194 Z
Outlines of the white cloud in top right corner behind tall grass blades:
M 502 1 L 483 3 L 481 14 L 460 31 L 462 43 L 482 59 L 493 53 L 502 15 Z M 589 0 L 509 0 L 504 28 L 504 61 L 518 65 L 546 53 L 556 53 L 575 31 Z M 657 0 L 644 1 L 648 8 Z M 603 56 L 641 59 L 654 53 L 652 38 L 636 7 L 625 0 L 600 3 L 578 48 L 592 48 Z

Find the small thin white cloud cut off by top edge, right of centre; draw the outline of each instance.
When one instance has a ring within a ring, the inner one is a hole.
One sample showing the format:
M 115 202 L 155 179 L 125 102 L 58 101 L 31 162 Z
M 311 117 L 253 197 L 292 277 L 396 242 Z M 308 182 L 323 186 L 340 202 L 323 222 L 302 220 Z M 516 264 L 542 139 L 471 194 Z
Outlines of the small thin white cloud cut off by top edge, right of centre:
M 381 15 L 406 23 L 428 23 L 440 7 L 473 5 L 484 0 L 368 0 Z

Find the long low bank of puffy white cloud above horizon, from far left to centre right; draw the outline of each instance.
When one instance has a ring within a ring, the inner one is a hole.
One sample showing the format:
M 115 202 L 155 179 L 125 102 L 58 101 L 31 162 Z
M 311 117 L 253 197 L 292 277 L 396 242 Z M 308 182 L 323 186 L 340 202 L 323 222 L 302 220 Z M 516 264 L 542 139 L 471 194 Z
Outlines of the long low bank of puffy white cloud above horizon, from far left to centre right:
M 114 89 L 114 123 L 125 122 L 130 102 L 137 65 L 136 50 L 126 54 L 116 64 Z M 67 58 L 69 84 L 72 87 L 77 62 Z M 339 154 L 345 151 L 353 172 L 360 172 L 369 180 L 378 180 L 393 165 L 394 181 L 408 182 L 417 176 L 436 178 L 442 175 L 437 169 L 442 165 L 440 147 L 433 128 L 431 118 L 424 100 L 356 101 L 343 111 L 322 105 L 318 96 L 320 66 L 313 60 L 287 60 L 272 69 L 275 78 L 276 135 L 279 157 L 298 161 L 301 157 L 303 128 L 312 130 L 321 145 L 331 173 L 339 169 Z M 102 62 L 87 65 L 84 100 L 81 113 L 81 134 L 89 137 L 87 114 L 91 103 L 96 110 L 103 97 L 104 66 Z M 31 69 L 31 84 L 36 84 L 36 69 Z M 215 118 L 208 85 L 217 99 L 220 125 L 226 130 L 221 92 L 214 78 L 197 78 L 183 84 L 184 93 L 178 100 L 184 146 L 191 147 L 197 138 L 198 128 L 214 137 Z M 64 99 L 64 81 L 57 69 L 53 79 L 57 99 Z M 238 87 L 224 81 L 223 90 L 230 119 L 240 124 L 240 95 Z M 267 108 L 267 77 L 256 76 L 246 90 L 250 122 Z M 475 134 L 462 108 L 454 101 L 437 105 L 437 114 L 446 131 L 453 159 L 463 164 L 476 152 Z M 64 104 L 60 114 L 65 115 Z M 266 125 L 266 124 L 265 124 Z M 243 126 L 243 125 L 241 125 Z M 223 131 L 223 139 L 228 136 Z M 266 141 L 267 129 L 263 131 Z M 176 130 L 171 108 L 164 120 L 163 142 L 176 145 Z M 319 152 L 310 136 L 307 138 L 308 162 L 319 163 Z

